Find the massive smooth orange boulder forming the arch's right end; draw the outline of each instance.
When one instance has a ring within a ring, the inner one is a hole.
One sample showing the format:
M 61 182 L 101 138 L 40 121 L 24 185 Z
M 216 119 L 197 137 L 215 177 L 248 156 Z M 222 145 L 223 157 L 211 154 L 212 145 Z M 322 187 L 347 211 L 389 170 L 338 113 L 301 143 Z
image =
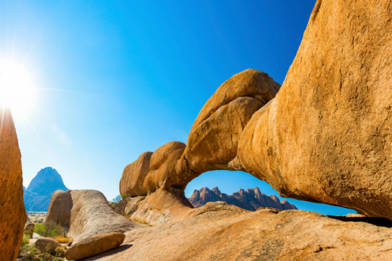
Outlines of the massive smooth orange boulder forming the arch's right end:
M 319 0 L 278 95 L 239 142 L 285 197 L 392 219 L 392 4 Z

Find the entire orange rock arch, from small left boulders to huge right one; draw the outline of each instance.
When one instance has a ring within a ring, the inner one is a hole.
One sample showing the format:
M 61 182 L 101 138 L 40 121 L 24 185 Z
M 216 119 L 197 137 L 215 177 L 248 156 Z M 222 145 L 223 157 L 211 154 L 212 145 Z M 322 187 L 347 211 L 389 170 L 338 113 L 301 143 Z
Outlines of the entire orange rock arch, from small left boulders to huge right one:
M 203 106 L 186 146 L 168 143 L 125 167 L 121 194 L 242 170 L 283 197 L 392 220 L 391 10 L 390 0 L 317 1 L 282 87 L 261 71 L 235 74 Z M 151 166 L 154 154 L 167 159 Z

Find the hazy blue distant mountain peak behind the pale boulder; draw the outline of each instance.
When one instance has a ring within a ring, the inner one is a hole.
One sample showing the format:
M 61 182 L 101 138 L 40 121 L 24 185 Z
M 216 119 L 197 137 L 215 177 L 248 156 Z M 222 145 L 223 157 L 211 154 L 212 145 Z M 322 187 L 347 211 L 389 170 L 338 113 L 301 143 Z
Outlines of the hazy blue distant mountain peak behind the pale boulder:
M 27 211 L 47 212 L 50 197 L 56 190 L 68 190 L 56 169 L 46 167 L 41 169 L 24 189 L 24 202 Z

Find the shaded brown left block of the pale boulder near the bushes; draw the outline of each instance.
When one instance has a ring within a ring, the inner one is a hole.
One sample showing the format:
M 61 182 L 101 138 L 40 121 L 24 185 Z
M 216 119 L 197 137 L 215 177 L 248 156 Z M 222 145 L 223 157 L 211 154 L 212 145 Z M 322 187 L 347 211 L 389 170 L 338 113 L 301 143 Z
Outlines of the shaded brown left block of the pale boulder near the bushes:
M 71 190 L 56 190 L 50 198 L 46 220 L 54 221 L 60 226 L 69 227 L 71 224 L 72 207 Z

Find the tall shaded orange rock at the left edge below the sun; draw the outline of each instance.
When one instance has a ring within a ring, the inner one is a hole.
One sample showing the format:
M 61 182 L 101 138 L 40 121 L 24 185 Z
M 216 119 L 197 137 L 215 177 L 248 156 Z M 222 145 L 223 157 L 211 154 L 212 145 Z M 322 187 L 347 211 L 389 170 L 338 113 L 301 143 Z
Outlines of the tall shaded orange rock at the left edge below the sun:
M 16 260 L 26 223 L 21 152 L 14 121 L 0 106 L 0 260 Z

